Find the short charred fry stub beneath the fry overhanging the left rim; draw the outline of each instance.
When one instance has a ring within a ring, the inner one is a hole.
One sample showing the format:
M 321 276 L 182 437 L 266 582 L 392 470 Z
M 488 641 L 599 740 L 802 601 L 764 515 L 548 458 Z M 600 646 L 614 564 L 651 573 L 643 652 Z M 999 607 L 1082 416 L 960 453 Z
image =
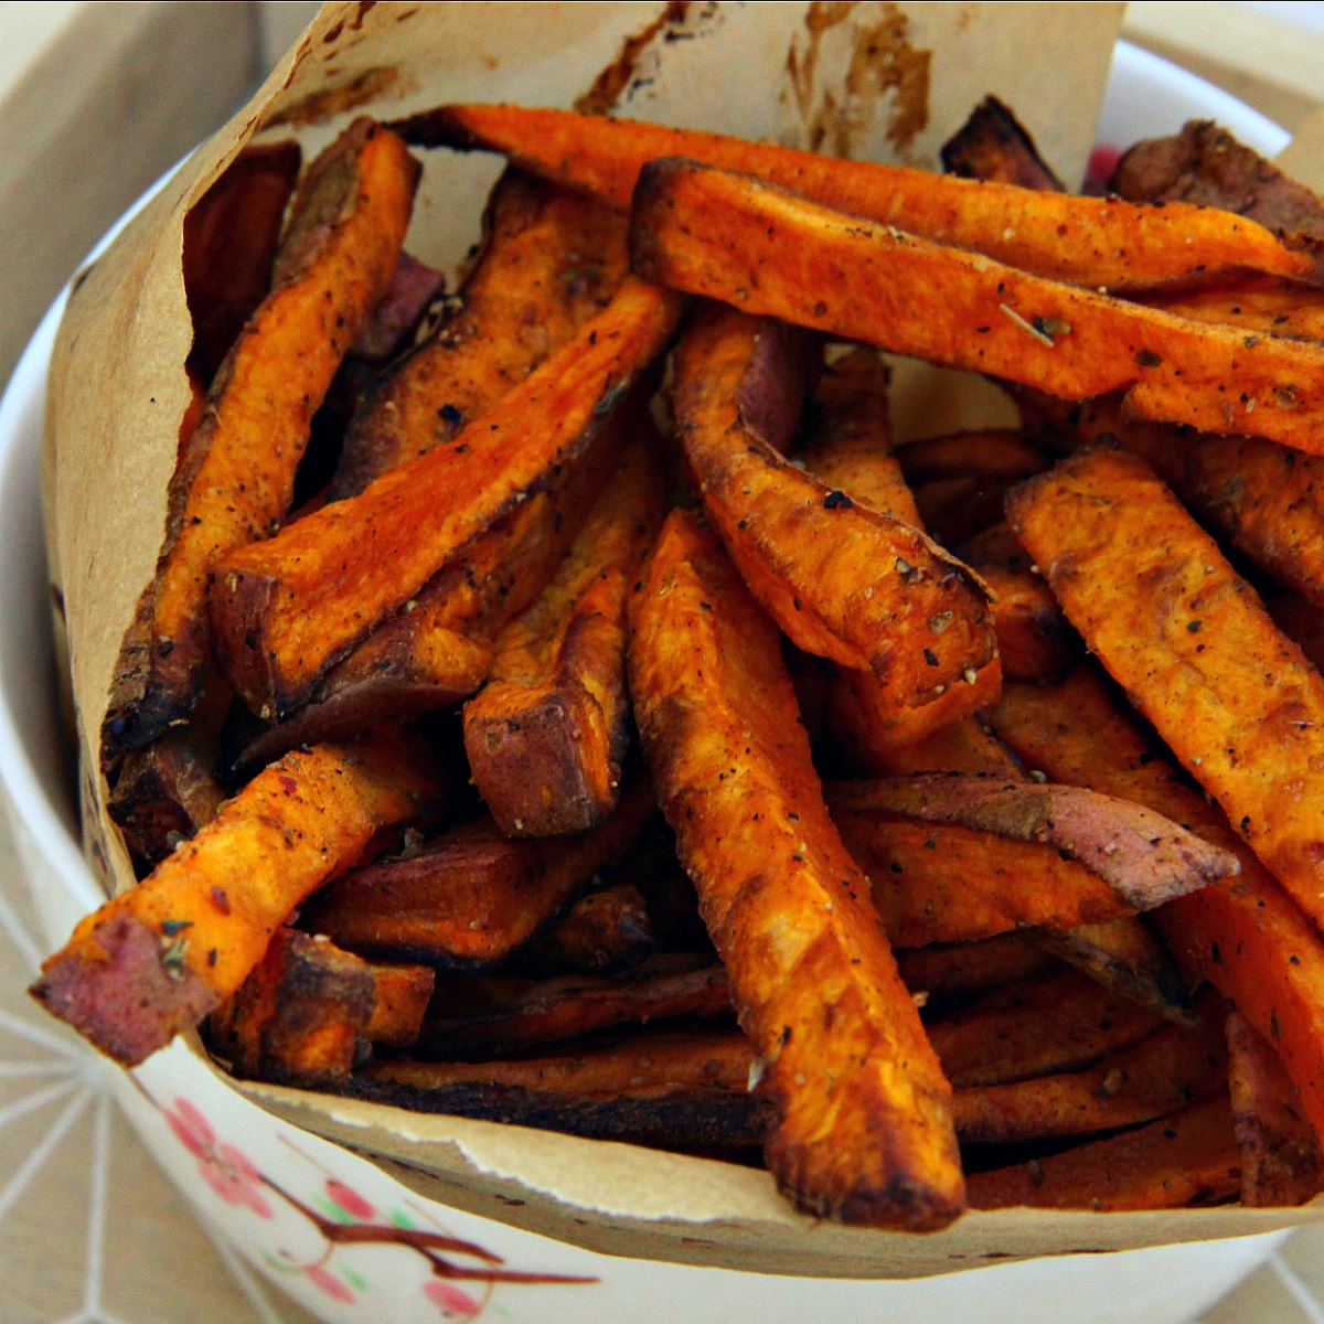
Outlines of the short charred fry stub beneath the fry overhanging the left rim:
M 249 1079 L 334 1084 L 354 1070 L 373 1001 L 365 961 L 282 928 L 238 992 L 212 1013 L 211 1046 Z

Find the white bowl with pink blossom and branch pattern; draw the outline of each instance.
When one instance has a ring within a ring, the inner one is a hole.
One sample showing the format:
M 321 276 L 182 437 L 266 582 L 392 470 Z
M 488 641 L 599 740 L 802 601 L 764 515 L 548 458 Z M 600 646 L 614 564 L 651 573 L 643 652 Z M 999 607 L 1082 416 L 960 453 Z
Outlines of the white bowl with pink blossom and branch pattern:
M 1119 46 L 1100 143 L 1172 132 L 1192 117 L 1218 119 L 1268 155 L 1287 143 L 1287 134 L 1225 93 Z M 0 401 L 0 779 L 52 947 L 102 900 L 78 846 L 58 733 L 41 543 L 42 408 L 62 307 L 64 298 Z M 682 1301 L 686 1319 L 714 1324 L 812 1317 L 1180 1324 L 1288 1235 L 1037 1259 L 906 1282 L 779 1278 L 628 1259 L 425 1200 L 383 1168 L 256 1107 L 180 1045 L 114 1079 L 134 1125 L 207 1225 L 306 1309 L 346 1324 L 475 1317 L 489 1309 L 512 1321 L 573 1316 L 584 1324 L 626 1324 L 675 1317 Z M 351 1223 L 381 1227 L 381 1239 L 338 1241 L 335 1229 Z M 416 1245 L 388 1239 L 400 1229 Z M 429 1237 L 457 1243 L 441 1253 L 449 1276 L 433 1272 L 424 1246 Z M 581 1282 L 493 1283 L 491 1270 Z

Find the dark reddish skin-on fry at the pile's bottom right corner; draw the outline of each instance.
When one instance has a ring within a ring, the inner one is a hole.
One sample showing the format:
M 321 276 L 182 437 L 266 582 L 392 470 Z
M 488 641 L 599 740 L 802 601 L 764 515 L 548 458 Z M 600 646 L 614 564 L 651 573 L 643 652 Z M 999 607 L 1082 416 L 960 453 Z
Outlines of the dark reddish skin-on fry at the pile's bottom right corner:
M 1242 1205 L 1304 1205 L 1324 1189 L 1320 1137 L 1282 1059 L 1245 1017 L 1227 1016 L 1227 1084 L 1242 1157 Z

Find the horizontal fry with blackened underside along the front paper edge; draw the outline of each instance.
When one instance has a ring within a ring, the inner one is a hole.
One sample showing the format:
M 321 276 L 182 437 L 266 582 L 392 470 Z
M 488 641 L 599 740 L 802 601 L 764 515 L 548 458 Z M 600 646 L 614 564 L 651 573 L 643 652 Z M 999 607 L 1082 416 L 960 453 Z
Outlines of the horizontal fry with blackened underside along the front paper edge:
M 519 1062 L 377 1062 L 351 1092 L 424 1112 L 489 1117 L 662 1148 L 756 1145 L 768 1103 L 745 1088 L 739 1030 L 647 1034 Z

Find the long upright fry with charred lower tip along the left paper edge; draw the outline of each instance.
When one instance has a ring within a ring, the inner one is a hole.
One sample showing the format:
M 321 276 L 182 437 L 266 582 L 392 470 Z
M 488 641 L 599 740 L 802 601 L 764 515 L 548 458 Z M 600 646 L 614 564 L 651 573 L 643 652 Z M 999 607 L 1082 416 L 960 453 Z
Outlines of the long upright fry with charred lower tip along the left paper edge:
M 404 143 L 359 119 L 299 188 L 271 294 L 212 384 L 171 479 L 156 579 L 111 687 L 110 761 L 192 708 L 209 665 L 209 577 L 226 552 L 269 538 L 289 510 L 312 413 L 391 281 L 417 180 Z

